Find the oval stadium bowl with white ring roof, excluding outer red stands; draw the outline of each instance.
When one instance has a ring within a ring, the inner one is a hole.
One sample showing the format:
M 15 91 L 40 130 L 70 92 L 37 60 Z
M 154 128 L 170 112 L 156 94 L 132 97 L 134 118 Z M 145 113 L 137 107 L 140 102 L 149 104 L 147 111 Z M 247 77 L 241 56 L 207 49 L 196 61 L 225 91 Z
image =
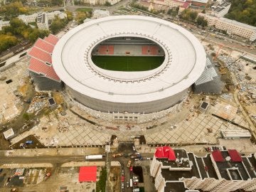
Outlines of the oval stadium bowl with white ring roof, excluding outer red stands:
M 108 16 L 68 31 L 52 53 L 74 100 L 107 113 L 166 110 L 187 95 L 206 66 L 189 31 L 146 16 Z

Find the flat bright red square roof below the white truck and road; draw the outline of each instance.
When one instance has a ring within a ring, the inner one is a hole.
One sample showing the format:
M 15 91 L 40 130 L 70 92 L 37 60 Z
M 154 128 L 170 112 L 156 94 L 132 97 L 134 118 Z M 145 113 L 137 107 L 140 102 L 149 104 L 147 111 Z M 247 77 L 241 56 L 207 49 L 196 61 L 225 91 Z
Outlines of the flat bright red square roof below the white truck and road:
M 97 166 L 80 166 L 79 182 L 96 181 Z

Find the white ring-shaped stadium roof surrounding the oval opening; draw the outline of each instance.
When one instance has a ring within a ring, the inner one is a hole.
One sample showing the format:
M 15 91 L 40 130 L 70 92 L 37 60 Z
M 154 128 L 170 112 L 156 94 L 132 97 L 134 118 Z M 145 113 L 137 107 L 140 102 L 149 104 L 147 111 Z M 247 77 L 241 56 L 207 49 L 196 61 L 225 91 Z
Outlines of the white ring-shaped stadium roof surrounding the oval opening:
M 93 48 L 108 38 L 123 36 L 156 42 L 165 52 L 164 63 L 154 70 L 134 73 L 97 68 L 91 59 Z M 205 65 L 205 50 L 192 33 L 169 21 L 146 16 L 108 16 L 88 21 L 65 33 L 53 50 L 53 68 L 66 85 L 108 102 L 151 102 L 171 97 L 190 87 Z

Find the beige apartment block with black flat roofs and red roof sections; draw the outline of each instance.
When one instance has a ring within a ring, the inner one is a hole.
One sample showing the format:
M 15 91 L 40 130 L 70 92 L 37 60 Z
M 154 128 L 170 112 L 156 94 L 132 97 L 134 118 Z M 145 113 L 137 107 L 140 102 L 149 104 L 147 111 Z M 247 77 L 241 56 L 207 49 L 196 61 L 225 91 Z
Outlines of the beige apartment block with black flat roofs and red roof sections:
M 256 190 L 256 155 L 240 156 L 235 149 L 215 150 L 198 157 L 185 149 L 156 148 L 150 166 L 159 192 L 226 192 Z

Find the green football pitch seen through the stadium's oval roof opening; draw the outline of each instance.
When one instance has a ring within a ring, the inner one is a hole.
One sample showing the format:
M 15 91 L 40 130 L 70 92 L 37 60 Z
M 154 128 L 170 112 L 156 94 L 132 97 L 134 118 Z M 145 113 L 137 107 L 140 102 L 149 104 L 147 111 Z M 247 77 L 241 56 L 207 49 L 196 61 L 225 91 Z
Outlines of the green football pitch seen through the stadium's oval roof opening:
M 92 55 L 92 61 L 105 70 L 144 71 L 158 68 L 164 62 L 164 56 Z

